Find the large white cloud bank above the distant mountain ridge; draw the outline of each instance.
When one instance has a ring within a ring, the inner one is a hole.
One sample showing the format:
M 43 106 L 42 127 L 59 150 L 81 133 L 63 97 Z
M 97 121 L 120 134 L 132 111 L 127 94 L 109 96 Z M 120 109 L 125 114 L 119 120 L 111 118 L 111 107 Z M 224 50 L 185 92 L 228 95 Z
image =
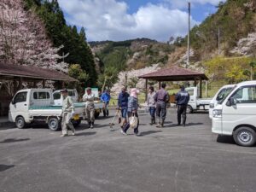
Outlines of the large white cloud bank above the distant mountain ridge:
M 197 0 L 203 1 L 203 0 Z M 90 41 L 152 38 L 167 41 L 183 36 L 188 30 L 188 14 L 148 3 L 136 13 L 127 13 L 128 5 L 116 0 L 59 0 L 67 13 L 67 22 L 84 26 Z M 194 26 L 197 22 L 191 19 Z

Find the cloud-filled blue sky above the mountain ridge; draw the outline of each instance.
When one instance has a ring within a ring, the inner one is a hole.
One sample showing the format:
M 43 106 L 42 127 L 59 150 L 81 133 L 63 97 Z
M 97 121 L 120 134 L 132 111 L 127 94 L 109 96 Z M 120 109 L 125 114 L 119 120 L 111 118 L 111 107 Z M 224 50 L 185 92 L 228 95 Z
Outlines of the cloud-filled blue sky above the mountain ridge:
M 190 0 L 191 26 L 216 12 L 220 0 Z M 84 26 L 89 41 L 152 38 L 166 42 L 188 31 L 185 0 L 59 0 L 69 25 Z

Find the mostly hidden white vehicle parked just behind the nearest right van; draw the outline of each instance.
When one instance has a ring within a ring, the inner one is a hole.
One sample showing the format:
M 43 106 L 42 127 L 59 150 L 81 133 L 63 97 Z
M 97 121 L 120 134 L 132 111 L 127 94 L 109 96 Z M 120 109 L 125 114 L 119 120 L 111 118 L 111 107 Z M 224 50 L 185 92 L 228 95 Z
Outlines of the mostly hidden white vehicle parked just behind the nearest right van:
M 213 96 L 212 101 L 210 102 L 209 108 L 209 118 L 212 119 L 212 111 L 218 104 L 221 102 L 227 95 L 230 94 L 231 90 L 235 87 L 235 84 L 227 84 L 221 87 L 218 92 Z

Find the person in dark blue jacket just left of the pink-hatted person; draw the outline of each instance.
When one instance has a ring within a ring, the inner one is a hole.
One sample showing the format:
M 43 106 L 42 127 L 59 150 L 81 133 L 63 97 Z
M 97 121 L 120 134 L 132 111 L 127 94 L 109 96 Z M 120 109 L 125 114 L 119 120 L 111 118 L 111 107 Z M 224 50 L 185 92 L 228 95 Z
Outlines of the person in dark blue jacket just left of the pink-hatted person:
M 128 97 L 130 95 L 126 92 L 125 87 L 122 87 L 122 91 L 119 93 L 119 101 L 118 101 L 118 105 L 119 105 L 119 110 L 121 110 L 121 116 L 122 116 L 122 120 L 121 120 L 121 127 L 123 128 L 123 126 L 125 125 L 125 123 L 127 122 L 127 110 L 128 110 Z

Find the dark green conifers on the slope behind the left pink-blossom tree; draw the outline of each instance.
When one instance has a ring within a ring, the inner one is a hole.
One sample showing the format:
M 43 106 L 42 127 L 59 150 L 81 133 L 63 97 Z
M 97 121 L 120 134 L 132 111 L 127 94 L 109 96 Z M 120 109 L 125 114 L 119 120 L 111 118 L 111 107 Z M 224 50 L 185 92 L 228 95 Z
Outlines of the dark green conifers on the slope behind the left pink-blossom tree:
M 94 57 L 86 42 L 86 35 L 82 27 L 78 32 L 76 26 L 68 26 L 57 1 L 24 0 L 25 9 L 39 16 L 44 21 L 46 34 L 55 47 L 63 45 L 59 55 L 66 55 L 64 61 L 82 73 L 73 74 L 74 78 L 83 81 L 83 86 L 96 85 L 97 73 Z

